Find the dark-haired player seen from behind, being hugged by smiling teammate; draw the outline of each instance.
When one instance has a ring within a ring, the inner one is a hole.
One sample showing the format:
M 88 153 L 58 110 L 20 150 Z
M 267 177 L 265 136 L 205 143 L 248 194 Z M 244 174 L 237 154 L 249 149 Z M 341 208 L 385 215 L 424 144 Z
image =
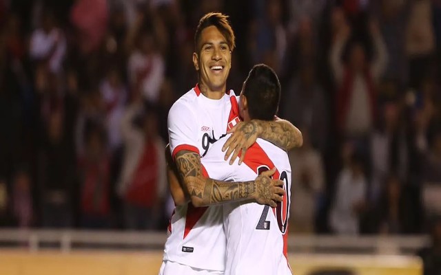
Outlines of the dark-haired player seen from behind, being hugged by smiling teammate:
M 249 72 L 240 93 L 240 115 L 252 119 L 274 120 L 280 101 L 280 83 L 267 65 L 256 65 Z M 223 159 L 220 138 L 203 157 L 210 177 L 226 181 L 247 181 L 276 167 L 273 177 L 283 180 L 285 195 L 276 208 L 258 203 L 226 203 L 224 225 L 227 236 L 225 274 L 291 275 L 287 261 L 287 225 L 291 195 L 291 165 L 287 152 L 258 139 L 247 151 L 243 164 L 229 165 Z

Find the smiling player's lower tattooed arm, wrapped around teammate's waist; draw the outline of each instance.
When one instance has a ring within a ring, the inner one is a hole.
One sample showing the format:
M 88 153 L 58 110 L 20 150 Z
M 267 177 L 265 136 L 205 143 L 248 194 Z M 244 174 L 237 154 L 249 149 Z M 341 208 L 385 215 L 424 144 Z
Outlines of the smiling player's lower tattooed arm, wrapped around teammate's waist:
M 203 176 L 201 157 L 197 153 L 180 151 L 175 162 L 183 189 L 195 207 L 245 200 L 276 207 L 284 194 L 280 187 L 283 182 L 269 178 L 275 170 L 262 173 L 254 181 L 218 181 Z

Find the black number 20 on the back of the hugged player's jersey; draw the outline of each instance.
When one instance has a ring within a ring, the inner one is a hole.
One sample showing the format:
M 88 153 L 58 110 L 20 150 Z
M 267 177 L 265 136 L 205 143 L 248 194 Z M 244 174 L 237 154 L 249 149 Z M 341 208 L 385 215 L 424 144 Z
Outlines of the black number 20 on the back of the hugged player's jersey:
M 268 166 L 259 166 L 257 168 L 257 173 L 260 175 L 261 173 L 269 170 Z M 288 225 L 288 213 L 289 213 L 289 184 L 288 184 L 288 175 L 286 171 L 283 171 L 280 173 L 281 181 L 283 181 L 283 189 L 285 190 L 285 196 L 283 196 L 283 201 L 280 203 L 277 203 L 276 207 L 276 219 L 278 223 L 278 228 L 280 229 L 280 232 L 282 234 L 285 234 L 287 231 L 287 225 Z M 260 219 L 257 223 L 256 229 L 257 230 L 269 230 L 269 221 L 265 221 L 267 219 L 267 215 L 269 212 L 269 206 L 265 206 L 263 208 L 263 212 L 260 215 Z

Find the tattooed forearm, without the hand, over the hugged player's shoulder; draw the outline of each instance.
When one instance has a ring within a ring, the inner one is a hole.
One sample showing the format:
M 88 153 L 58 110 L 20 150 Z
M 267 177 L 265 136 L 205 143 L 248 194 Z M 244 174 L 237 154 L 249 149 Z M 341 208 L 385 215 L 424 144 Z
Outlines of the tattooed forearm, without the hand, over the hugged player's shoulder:
M 259 121 L 260 138 L 267 140 L 279 148 L 289 150 L 301 144 L 301 134 L 291 123 L 286 120 Z

